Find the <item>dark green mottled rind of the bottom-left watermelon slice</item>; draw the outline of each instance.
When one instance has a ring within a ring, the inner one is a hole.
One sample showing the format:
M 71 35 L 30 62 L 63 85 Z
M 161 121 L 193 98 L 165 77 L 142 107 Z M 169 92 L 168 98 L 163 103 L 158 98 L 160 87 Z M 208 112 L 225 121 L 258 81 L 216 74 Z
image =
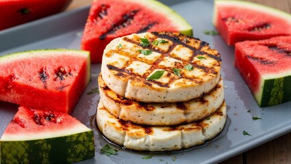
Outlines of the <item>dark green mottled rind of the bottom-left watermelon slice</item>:
M 27 141 L 0 141 L 1 163 L 75 163 L 94 157 L 92 130 Z

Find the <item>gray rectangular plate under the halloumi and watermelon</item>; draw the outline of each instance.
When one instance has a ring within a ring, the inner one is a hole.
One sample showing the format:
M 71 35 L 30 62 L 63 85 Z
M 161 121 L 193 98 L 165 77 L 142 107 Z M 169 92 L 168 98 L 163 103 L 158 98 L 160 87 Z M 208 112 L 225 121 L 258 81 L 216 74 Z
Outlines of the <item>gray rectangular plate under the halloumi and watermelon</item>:
M 73 116 L 78 120 L 94 128 L 95 134 L 96 156 L 81 163 L 217 163 L 291 131 L 291 102 L 259 108 L 240 74 L 233 67 L 233 47 L 227 46 L 220 36 L 207 36 L 203 33 L 204 30 L 214 29 L 212 1 L 165 1 L 165 3 L 186 18 L 194 28 L 195 37 L 209 42 L 223 58 L 222 74 L 228 109 L 225 129 L 216 139 L 203 146 L 181 152 L 153 153 L 152 159 L 142 159 L 143 156 L 149 155 L 147 152 L 132 152 L 118 147 L 115 147 L 119 150 L 116 156 L 100 154 L 100 149 L 107 141 L 90 121 L 94 119 L 99 95 L 86 94 L 97 87 L 100 65 L 94 64 L 92 81 L 73 112 Z M 29 49 L 79 49 L 87 15 L 88 8 L 81 8 L 0 31 L 0 55 Z M 249 110 L 251 112 L 247 112 Z M 0 135 L 16 111 L 17 105 L 0 102 Z M 262 120 L 252 120 L 253 116 Z M 247 131 L 252 136 L 242 135 L 242 131 Z

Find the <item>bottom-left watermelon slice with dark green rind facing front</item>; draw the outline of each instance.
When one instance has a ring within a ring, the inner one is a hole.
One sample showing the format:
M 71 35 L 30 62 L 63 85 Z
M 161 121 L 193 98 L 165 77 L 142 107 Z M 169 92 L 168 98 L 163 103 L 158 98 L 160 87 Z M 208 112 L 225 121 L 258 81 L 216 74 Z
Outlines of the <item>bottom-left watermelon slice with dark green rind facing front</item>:
M 0 146 L 3 164 L 74 163 L 94 156 L 94 135 L 66 113 L 19 107 Z

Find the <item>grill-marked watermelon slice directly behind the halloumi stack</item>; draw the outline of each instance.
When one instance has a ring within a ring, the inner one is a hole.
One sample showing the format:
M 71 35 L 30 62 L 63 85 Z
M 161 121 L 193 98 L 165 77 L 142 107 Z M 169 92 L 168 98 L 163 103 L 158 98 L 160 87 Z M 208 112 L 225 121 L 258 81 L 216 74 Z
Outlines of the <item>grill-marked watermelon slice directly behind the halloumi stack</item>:
M 146 31 L 175 31 L 192 36 L 192 27 L 176 12 L 155 1 L 94 0 L 81 40 L 92 63 L 101 62 L 114 38 Z

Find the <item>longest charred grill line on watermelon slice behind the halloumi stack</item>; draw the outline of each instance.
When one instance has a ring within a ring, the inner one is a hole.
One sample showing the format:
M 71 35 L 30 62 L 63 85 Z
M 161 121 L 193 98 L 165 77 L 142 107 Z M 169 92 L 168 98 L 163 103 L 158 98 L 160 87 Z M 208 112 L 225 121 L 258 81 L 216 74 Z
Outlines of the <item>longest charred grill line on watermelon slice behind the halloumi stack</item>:
M 99 39 L 104 40 L 108 34 L 114 33 L 118 29 L 121 29 L 121 28 L 124 28 L 124 27 L 127 27 L 128 25 L 130 25 L 131 20 L 134 19 L 134 16 L 136 16 L 136 13 L 138 13 L 138 10 L 134 10 L 134 11 L 131 11 L 127 14 L 124 14 L 123 17 L 121 18 L 121 20 L 118 20 L 117 23 L 114 23 L 112 25 L 112 27 L 107 32 L 103 33 L 103 35 L 101 35 L 99 37 Z

